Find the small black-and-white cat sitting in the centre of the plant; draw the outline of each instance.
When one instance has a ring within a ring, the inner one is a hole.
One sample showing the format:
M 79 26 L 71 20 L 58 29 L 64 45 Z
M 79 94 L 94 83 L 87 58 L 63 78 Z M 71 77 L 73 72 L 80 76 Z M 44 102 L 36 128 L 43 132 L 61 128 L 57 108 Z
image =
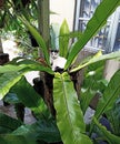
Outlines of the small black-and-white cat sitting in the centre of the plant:
M 52 71 L 54 72 L 62 72 L 67 59 L 59 55 L 59 50 L 50 50 L 50 63 Z

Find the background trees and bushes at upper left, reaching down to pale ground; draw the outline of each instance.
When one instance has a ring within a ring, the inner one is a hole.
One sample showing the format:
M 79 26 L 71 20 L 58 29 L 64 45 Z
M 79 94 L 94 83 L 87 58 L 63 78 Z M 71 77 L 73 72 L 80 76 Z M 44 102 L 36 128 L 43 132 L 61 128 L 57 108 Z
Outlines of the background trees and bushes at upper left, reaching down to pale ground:
M 4 1 L 4 0 L 3 0 Z M 0 8 L 0 35 L 3 40 L 13 40 L 17 49 L 24 56 L 36 56 L 37 48 L 31 47 L 31 41 L 26 27 L 18 19 L 19 14 L 23 14 L 28 21 L 37 27 L 38 8 L 37 0 L 6 0 Z

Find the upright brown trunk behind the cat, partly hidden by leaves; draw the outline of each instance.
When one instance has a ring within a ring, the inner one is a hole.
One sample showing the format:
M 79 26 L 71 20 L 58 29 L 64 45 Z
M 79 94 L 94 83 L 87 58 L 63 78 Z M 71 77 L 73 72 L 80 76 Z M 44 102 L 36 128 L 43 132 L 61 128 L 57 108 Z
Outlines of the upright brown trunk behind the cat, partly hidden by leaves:
M 49 32 L 49 0 L 38 0 L 38 10 L 39 10 L 39 31 L 40 34 L 42 35 L 43 40 L 46 41 L 46 45 L 48 48 L 48 52 L 49 52 L 49 42 L 50 42 L 50 32 Z M 40 51 L 39 53 L 40 58 L 43 58 L 43 53 Z M 53 107 L 53 97 L 52 97 L 52 80 L 53 76 L 44 73 L 44 72 L 40 72 L 40 79 L 43 82 L 43 90 L 44 90 L 44 101 L 51 112 L 51 114 L 54 116 L 56 112 L 54 112 L 54 107 Z

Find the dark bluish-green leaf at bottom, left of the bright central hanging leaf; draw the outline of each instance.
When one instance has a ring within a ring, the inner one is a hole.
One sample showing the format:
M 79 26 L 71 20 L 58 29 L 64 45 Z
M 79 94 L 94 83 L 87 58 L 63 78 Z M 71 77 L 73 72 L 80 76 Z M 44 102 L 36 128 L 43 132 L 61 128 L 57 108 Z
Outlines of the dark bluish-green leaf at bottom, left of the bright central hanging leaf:
M 16 130 L 13 135 L 23 135 L 24 137 L 32 137 L 36 141 L 42 140 L 47 143 L 60 142 L 60 133 L 56 123 L 51 120 L 39 120 L 31 125 L 22 125 Z

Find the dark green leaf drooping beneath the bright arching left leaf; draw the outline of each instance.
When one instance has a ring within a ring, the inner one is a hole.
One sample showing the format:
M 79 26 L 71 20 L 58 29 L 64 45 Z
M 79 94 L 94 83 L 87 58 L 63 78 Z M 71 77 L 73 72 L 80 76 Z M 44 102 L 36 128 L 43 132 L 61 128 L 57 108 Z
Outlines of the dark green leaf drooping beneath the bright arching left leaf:
M 11 90 L 17 94 L 19 100 L 27 106 L 30 107 L 36 113 L 41 116 L 46 116 L 48 111 L 41 96 L 34 91 L 34 89 L 22 78 Z

